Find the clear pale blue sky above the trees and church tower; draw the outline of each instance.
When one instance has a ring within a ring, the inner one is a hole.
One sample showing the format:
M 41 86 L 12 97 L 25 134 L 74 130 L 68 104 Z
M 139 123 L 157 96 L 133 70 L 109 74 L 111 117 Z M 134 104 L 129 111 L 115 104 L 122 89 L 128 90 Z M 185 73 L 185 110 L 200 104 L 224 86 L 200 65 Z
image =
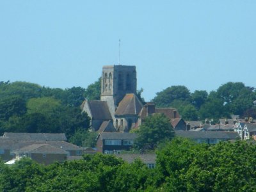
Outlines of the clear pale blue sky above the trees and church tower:
M 256 86 L 256 1 L 0 1 L 0 81 L 71 88 L 136 65 L 151 100 L 172 85 Z

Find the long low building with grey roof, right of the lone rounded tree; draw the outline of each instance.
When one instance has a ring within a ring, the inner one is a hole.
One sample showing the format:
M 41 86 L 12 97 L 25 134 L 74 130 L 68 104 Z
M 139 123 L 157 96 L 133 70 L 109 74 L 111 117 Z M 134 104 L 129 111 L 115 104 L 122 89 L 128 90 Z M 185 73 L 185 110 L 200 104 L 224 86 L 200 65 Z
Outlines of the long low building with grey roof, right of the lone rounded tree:
M 240 140 L 237 132 L 227 131 L 175 131 L 176 136 L 189 138 L 197 143 L 216 144 L 220 141 Z

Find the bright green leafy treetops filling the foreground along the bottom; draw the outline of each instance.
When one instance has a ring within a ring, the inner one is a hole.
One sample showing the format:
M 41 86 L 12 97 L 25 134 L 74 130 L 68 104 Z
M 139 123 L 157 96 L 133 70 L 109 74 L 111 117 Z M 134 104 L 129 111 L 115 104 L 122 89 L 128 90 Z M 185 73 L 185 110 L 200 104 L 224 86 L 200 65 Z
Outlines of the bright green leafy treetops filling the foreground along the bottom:
M 103 154 L 48 166 L 27 158 L 13 166 L 0 161 L 0 191 L 255 191 L 255 150 L 248 141 L 174 138 L 157 149 L 153 169 Z

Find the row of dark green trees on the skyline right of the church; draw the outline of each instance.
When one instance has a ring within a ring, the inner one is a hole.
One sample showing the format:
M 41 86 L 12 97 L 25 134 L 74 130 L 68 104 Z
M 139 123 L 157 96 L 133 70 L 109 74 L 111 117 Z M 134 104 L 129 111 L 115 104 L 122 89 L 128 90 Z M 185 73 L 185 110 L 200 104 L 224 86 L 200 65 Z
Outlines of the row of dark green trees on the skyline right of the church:
M 156 93 L 152 102 L 159 108 L 177 108 L 185 120 L 218 120 L 231 115 L 256 118 L 254 100 L 255 88 L 241 82 L 228 82 L 210 93 L 205 90 L 190 93 L 186 86 L 170 86 Z

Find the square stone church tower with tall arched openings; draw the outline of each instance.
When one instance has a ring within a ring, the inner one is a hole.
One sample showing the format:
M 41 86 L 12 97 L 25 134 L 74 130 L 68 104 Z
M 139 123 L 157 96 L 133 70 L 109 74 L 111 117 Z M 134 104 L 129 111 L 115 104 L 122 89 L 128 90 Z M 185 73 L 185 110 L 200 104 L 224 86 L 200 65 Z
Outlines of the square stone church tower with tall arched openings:
M 102 68 L 100 100 L 106 101 L 112 118 L 118 103 L 127 93 L 136 93 L 136 67 L 127 65 L 108 65 Z

